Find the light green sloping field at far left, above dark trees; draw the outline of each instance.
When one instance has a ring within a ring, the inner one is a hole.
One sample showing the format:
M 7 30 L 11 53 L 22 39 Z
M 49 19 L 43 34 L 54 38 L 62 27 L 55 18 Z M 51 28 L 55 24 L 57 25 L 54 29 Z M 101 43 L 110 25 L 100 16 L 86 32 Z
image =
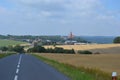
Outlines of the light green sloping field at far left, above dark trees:
M 19 44 L 25 44 L 25 42 L 0 39 L 0 47 L 1 46 L 19 45 Z

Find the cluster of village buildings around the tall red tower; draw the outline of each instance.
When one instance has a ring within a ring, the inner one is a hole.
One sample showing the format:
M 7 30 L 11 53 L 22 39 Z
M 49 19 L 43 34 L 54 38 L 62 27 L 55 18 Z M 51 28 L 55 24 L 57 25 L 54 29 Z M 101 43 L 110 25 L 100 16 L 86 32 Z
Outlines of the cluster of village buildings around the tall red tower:
M 88 43 L 78 42 L 74 40 L 74 35 L 72 32 L 70 32 L 69 36 L 62 36 L 61 38 L 64 39 L 64 41 L 52 41 L 52 40 L 42 40 L 42 39 L 35 39 L 32 41 L 32 46 L 36 45 L 86 45 Z

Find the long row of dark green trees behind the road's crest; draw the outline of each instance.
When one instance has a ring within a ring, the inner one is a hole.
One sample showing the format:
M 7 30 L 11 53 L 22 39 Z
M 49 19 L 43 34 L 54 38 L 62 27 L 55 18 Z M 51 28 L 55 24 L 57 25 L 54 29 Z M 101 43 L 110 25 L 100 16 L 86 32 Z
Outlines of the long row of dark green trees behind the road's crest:
M 14 51 L 17 53 L 66 53 L 66 54 L 75 54 L 75 51 L 73 49 L 63 49 L 59 47 L 55 47 L 54 49 L 48 48 L 45 49 L 42 46 L 34 46 L 33 48 L 29 48 L 27 51 L 24 50 L 23 46 L 8 46 L 8 47 L 0 47 L 1 51 Z

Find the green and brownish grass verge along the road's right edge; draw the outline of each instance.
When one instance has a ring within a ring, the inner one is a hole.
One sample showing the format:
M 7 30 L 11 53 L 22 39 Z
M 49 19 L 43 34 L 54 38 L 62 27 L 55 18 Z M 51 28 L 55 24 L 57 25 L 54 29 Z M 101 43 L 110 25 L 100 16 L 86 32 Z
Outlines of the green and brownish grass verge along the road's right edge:
M 37 54 L 32 55 L 53 66 L 58 71 L 68 76 L 71 80 L 111 80 L 111 74 L 103 72 L 99 69 L 75 67 L 70 64 L 64 64 L 52 59 L 41 57 Z

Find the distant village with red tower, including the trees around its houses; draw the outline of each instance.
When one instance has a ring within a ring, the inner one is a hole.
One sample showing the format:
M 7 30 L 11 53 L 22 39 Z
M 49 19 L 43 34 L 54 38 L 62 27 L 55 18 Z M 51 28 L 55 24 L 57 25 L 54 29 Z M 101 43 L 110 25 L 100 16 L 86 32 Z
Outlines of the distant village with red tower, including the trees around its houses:
M 28 42 L 31 42 L 32 46 L 36 45 L 87 45 L 87 44 L 93 44 L 86 40 L 82 40 L 80 38 L 77 38 L 75 35 L 73 35 L 72 32 L 68 36 L 61 36 L 62 40 L 50 40 L 50 39 L 40 39 L 37 38 L 33 41 L 27 40 Z M 95 43 L 94 43 L 95 44 Z

